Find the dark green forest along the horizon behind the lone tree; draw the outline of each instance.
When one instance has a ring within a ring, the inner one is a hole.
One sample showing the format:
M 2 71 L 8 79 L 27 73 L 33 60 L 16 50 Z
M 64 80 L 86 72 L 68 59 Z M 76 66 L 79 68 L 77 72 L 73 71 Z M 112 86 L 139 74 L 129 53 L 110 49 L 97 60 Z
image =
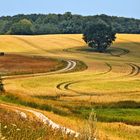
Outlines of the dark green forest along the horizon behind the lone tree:
M 0 17 L 0 34 L 39 35 L 83 33 L 92 23 L 106 23 L 116 33 L 140 34 L 140 19 L 108 15 L 19 14 Z

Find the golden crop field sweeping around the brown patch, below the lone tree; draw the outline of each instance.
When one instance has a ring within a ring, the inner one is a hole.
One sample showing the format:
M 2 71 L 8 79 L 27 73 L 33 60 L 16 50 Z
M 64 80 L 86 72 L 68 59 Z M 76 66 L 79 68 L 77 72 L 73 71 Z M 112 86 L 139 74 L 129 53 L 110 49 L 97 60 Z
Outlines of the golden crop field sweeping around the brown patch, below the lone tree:
M 116 42 L 104 54 L 88 48 L 82 35 L 1 36 L 0 51 L 75 59 L 88 66 L 81 72 L 5 80 L 6 91 L 25 94 L 25 101 L 52 104 L 67 113 L 76 111 L 77 106 L 135 108 L 140 102 L 140 35 L 117 34 Z

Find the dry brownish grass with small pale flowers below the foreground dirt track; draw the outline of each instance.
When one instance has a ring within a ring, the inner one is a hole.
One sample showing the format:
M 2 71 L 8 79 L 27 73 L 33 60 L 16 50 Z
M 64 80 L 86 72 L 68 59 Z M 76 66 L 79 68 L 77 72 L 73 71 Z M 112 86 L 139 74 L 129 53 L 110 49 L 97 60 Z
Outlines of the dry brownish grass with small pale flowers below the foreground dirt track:
M 73 136 L 63 134 L 42 124 L 36 118 L 23 119 L 11 109 L 0 107 L 0 139 L 1 140 L 76 140 Z M 78 140 L 78 139 L 77 139 Z

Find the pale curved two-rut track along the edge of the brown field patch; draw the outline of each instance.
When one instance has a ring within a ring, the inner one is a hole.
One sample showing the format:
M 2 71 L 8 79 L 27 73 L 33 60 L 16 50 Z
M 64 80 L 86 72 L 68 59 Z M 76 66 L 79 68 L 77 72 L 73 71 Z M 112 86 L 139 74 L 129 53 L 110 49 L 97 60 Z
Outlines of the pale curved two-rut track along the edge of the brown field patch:
M 36 76 L 44 76 L 44 75 L 52 75 L 52 74 L 58 74 L 58 73 L 65 73 L 70 72 L 76 67 L 76 61 L 74 60 L 67 60 L 67 66 L 63 69 L 52 71 L 52 72 L 46 72 L 46 73 L 36 73 L 36 74 L 25 74 L 25 75 L 12 75 L 12 76 L 3 76 L 2 79 L 19 79 L 19 78 L 28 78 L 28 77 L 36 77 Z

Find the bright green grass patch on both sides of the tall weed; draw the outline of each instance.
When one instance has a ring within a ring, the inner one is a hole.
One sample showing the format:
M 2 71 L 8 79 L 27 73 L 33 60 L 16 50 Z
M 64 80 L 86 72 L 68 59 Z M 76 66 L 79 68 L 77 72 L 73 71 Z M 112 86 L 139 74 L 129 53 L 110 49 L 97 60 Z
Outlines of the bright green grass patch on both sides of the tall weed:
M 91 109 L 79 108 L 73 113 L 87 119 Z M 97 119 L 99 122 L 123 122 L 131 125 L 140 125 L 139 108 L 96 108 Z

